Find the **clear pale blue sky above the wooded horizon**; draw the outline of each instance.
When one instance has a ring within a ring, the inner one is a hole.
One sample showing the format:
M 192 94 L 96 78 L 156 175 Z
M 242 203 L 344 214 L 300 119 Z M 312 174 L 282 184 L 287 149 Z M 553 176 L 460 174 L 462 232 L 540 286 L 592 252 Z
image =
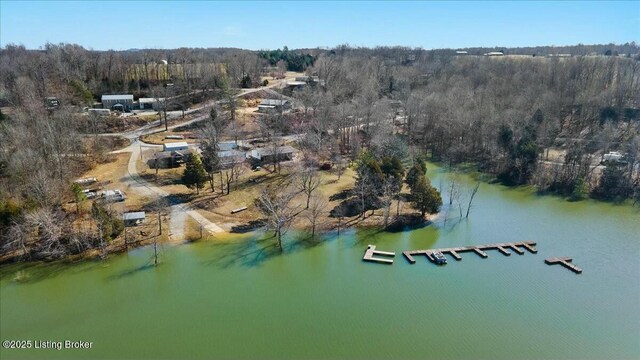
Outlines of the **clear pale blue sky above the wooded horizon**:
M 0 0 L 0 45 L 276 49 L 640 42 L 640 1 L 172 2 Z

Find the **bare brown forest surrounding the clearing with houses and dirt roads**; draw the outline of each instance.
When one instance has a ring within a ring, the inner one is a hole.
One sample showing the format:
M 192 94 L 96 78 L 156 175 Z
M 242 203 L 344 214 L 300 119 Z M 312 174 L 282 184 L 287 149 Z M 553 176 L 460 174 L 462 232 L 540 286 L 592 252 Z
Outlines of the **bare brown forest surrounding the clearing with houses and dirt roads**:
M 362 194 L 363 216 L 385 206 L 384 176 L 402 179 L 394 169 L 419 167 L 416 159 L 423 157 L 569 200 L 639 203 L 640 48 L 501 50 L 505 56 L 348 45 L 269 52 L 8 45 L 0 50 L 0 246 L 15 250 L 36 238 L 32 253 L 55 258 L 101 246 L 121 231 L 109 209 L 94 206 L 93 223 L 78 226 L 64 207 L 82 196 L 73 179 L 108 161 L 105 149 L 113 147 L 83 133 L 86 120 L 74 116 L 82 107 L 102 94 L 154 96 L 168 82 L 178 93 L 215 99 L 262 85 L 261 77 L 278 62 L 322 82 L 292 94 L 294 115 L 265 117 L 265 137 L 300 135 L 308 166 L 352 164 L 359 171 L 354 192 Z M 573 56 L 533 56 L 549 53 Z M 50 96 L 63 106 L 47 109 Z M 605 161 L 611 151 L 623 159 Z M 428 179 L 411 184 L 432 191 Z M 397 183 L 388 186 L 397 197 Z M 365 201 L 370 188 L 380 201 Z M 413 202 L 422 215 L 437 208 Z

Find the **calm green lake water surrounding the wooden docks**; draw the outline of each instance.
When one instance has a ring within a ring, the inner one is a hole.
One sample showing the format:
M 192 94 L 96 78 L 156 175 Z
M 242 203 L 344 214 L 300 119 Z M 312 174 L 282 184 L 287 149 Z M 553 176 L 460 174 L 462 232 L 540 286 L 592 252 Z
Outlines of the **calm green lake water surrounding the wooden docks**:
M 638 208 L 483 184 L 470 218 L 456 214 L 407 232 L 288 239 L 282 255 L 243 238 L 165 247 L 158 268 L 145 266 L 149 248 L 3 266 L 1 340 L 93 345 L 0 358 L 640 358 Z M 442 267 L 401 255 L 522 240 L 538 254 L 463 253 Z M 395 263 L 362 262 L 368 244 Z M 559 256 L 583 273 L 544 264 Z

